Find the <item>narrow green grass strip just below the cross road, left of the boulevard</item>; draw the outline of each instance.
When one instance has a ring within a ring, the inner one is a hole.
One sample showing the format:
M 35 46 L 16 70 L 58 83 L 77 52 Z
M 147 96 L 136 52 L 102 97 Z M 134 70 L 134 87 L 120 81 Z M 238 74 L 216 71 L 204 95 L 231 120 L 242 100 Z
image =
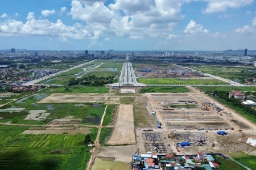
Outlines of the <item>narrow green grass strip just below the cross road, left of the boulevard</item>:
M 108 87 L 95 87 L 95 86 L 73 86 L 73 87 L 48 87 L 40 91 L 45 94 L 63 94 L 63 93 L 108 93 Z

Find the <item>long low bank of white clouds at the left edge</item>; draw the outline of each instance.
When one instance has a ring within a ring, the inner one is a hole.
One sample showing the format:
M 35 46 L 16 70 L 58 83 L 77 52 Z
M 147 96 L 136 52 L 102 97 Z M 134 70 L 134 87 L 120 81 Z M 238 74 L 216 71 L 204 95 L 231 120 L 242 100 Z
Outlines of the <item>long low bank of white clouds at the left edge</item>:
M 49 22 L 47 19 L 36 20 L 33 12 L 28 13 L 26 23 L 14 19 L 0 22 L 0 36 L 22 35 L 58 37 L 61 41 L 86 38 L 97 40 L 101 32 L 89 32 L 79 23 L 72 26 L 65 25 L 60 19 L 56 23 Z

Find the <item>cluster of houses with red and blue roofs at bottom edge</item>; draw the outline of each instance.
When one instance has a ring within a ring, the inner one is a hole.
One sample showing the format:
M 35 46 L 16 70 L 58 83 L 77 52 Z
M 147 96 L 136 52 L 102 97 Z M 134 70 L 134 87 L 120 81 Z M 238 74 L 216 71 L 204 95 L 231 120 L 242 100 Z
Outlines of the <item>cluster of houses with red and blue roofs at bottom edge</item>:
M 133 155 L 133 170 L 193 170 L 196 167 L 214 170 L 216 167 L 219 167 L 219 165 L 214 162 L 214 158 L 211 154 L 198 153 L 197 155 L 177 156 L 174 154 L 163 155 L 147 152 L 147 154 Z

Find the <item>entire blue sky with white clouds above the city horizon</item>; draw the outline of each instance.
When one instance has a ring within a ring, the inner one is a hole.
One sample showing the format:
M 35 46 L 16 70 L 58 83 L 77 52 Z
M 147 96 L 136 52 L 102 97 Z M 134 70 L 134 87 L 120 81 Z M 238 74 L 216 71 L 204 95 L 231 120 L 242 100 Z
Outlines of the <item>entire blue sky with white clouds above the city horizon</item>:
M 0 49 L 256 49 L 254 0 L 1 0 Z

